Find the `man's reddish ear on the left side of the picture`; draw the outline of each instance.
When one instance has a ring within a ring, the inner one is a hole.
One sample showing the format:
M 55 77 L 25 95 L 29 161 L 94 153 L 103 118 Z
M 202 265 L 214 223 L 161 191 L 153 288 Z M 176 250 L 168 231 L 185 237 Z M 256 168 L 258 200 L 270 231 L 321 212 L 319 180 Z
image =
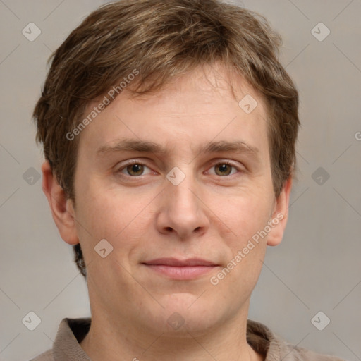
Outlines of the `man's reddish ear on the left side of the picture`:
M 75 211 L 72 200 L 66 199 L 66 193 L 56 181 L 49 161 L 42 164 L 42 190 L 47 196 L 51 214 L 58 227 L 61 238 L 69 245 L 79 243 L 76 232 Z

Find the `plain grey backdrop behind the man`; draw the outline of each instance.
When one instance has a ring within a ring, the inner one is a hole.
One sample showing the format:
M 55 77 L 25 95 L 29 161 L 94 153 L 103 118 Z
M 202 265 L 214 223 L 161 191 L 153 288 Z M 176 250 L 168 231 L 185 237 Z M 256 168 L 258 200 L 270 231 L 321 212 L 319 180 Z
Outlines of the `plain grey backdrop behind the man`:
M 361 360 L 361 1 L 233 3 L 262 13 L 281 33 L 281 60 L 301 101 L 290 219 L 281 245 L 269 247 L 249 317 L 300 347 Z M 30 185 L 23 174 L 40 173 L 42 164 L 31 114 L 46 61 L 101 4 L 0 0 L 0 360 L 28 360 L 51 348 L 63 317 L 90 315 L 85 281 L 41 181 Z M 42 31 L 34 42 L 22 34 L 30 22 Z M 322 42 L 311 32 L 319 22 L 331 31 Z M 329 174 L 321 185 L 318 173 L 312 178 L 319 167 L 323 182 Z M 22 323 L 30 311 L 42 321 L 34 331 Z M 323 331 L 311 323 L 319 311 L 331 319 Z

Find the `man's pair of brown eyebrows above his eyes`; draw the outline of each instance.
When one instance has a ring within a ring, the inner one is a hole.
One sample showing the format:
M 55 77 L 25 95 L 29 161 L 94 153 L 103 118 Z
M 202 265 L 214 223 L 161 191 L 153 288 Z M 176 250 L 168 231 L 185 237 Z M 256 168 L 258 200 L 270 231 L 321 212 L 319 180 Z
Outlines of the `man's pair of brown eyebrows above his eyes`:
M 234 142 L 226 142 L 221 140 L 219 142 L 208 142 L 206 145 L 201 146 L 198 150 L 198 154 L 201 152 L 205 153 L 224 153 L 224 152 L 235 152 L 235 153 L 245 153 L 249 154 L 252 157 L 259 159 L 259 149 L 252 145 L 247 145 L 245 142 L 240 140 Z M 111 145 L 102 145 L 97 149 L 97 154 L 101 156 L 102 154 L 116 153 L 116 152 L 142 152 L 142 153 L 152 153 L 164 155 L 169 152 L 168 149 L 154 142 L 149 142 L 147 140 L 131 140 L 131 139 L 121 139 L 116 140 Z

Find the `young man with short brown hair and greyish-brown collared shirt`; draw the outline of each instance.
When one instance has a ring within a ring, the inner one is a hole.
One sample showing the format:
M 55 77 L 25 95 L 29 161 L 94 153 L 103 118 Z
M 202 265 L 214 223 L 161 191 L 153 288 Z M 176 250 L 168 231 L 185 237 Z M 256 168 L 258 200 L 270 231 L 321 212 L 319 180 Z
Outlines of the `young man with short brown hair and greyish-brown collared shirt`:
M 295 173 L 280 44 L 220 1 L 126 0 L 57 49 L 34 111 L 43 189 L 92 317 L 34 360 L 340 360 L 247 320 Z

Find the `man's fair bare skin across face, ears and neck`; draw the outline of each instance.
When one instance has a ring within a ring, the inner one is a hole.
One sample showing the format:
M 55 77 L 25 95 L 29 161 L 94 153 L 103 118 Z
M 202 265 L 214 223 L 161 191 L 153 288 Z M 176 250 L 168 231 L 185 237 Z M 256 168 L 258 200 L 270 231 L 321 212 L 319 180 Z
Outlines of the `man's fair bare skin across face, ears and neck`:
M 227 80 L 236 80 L 236 99 Z M 258 102 L 250 114 L 238 106 L 245 94 Z M 87 264 L 92 325 L 80 343 L 87 355 L 93 361 L 264 360 L 247 344 L 247 313 L 267 245 L 283 237 L 292 181 L 276 198 L 262 97 L 242 78 L 229 80 L 222 66 L 197 68 L 155 95 L 131 99 L 123 90 L 78 136 L 75 205 L 47 162 L 42 172 L 61 237 L 80 242 Z M 120 138 L 167 150 L 97 154 Z M 219 140 L 257 147 L 258 158 L 200 150 Z M 141 176 L 127 173 L 130 159 L 145 164 Z M 224 170 L 222 161 L 234 167 Z M 179 185 L 166 178 L 175 166 L 185 174 Z M 279 224 L 212 285 L 210 278 L 277 214 Z M 104 238 L 114 249 L 102 258 L 94 247 Z M 159 257 L 198 257 L 219 266 L 180 281 L 142 264 Z M 174 312 L 184 320 L 179 329 L 167 322 Z

